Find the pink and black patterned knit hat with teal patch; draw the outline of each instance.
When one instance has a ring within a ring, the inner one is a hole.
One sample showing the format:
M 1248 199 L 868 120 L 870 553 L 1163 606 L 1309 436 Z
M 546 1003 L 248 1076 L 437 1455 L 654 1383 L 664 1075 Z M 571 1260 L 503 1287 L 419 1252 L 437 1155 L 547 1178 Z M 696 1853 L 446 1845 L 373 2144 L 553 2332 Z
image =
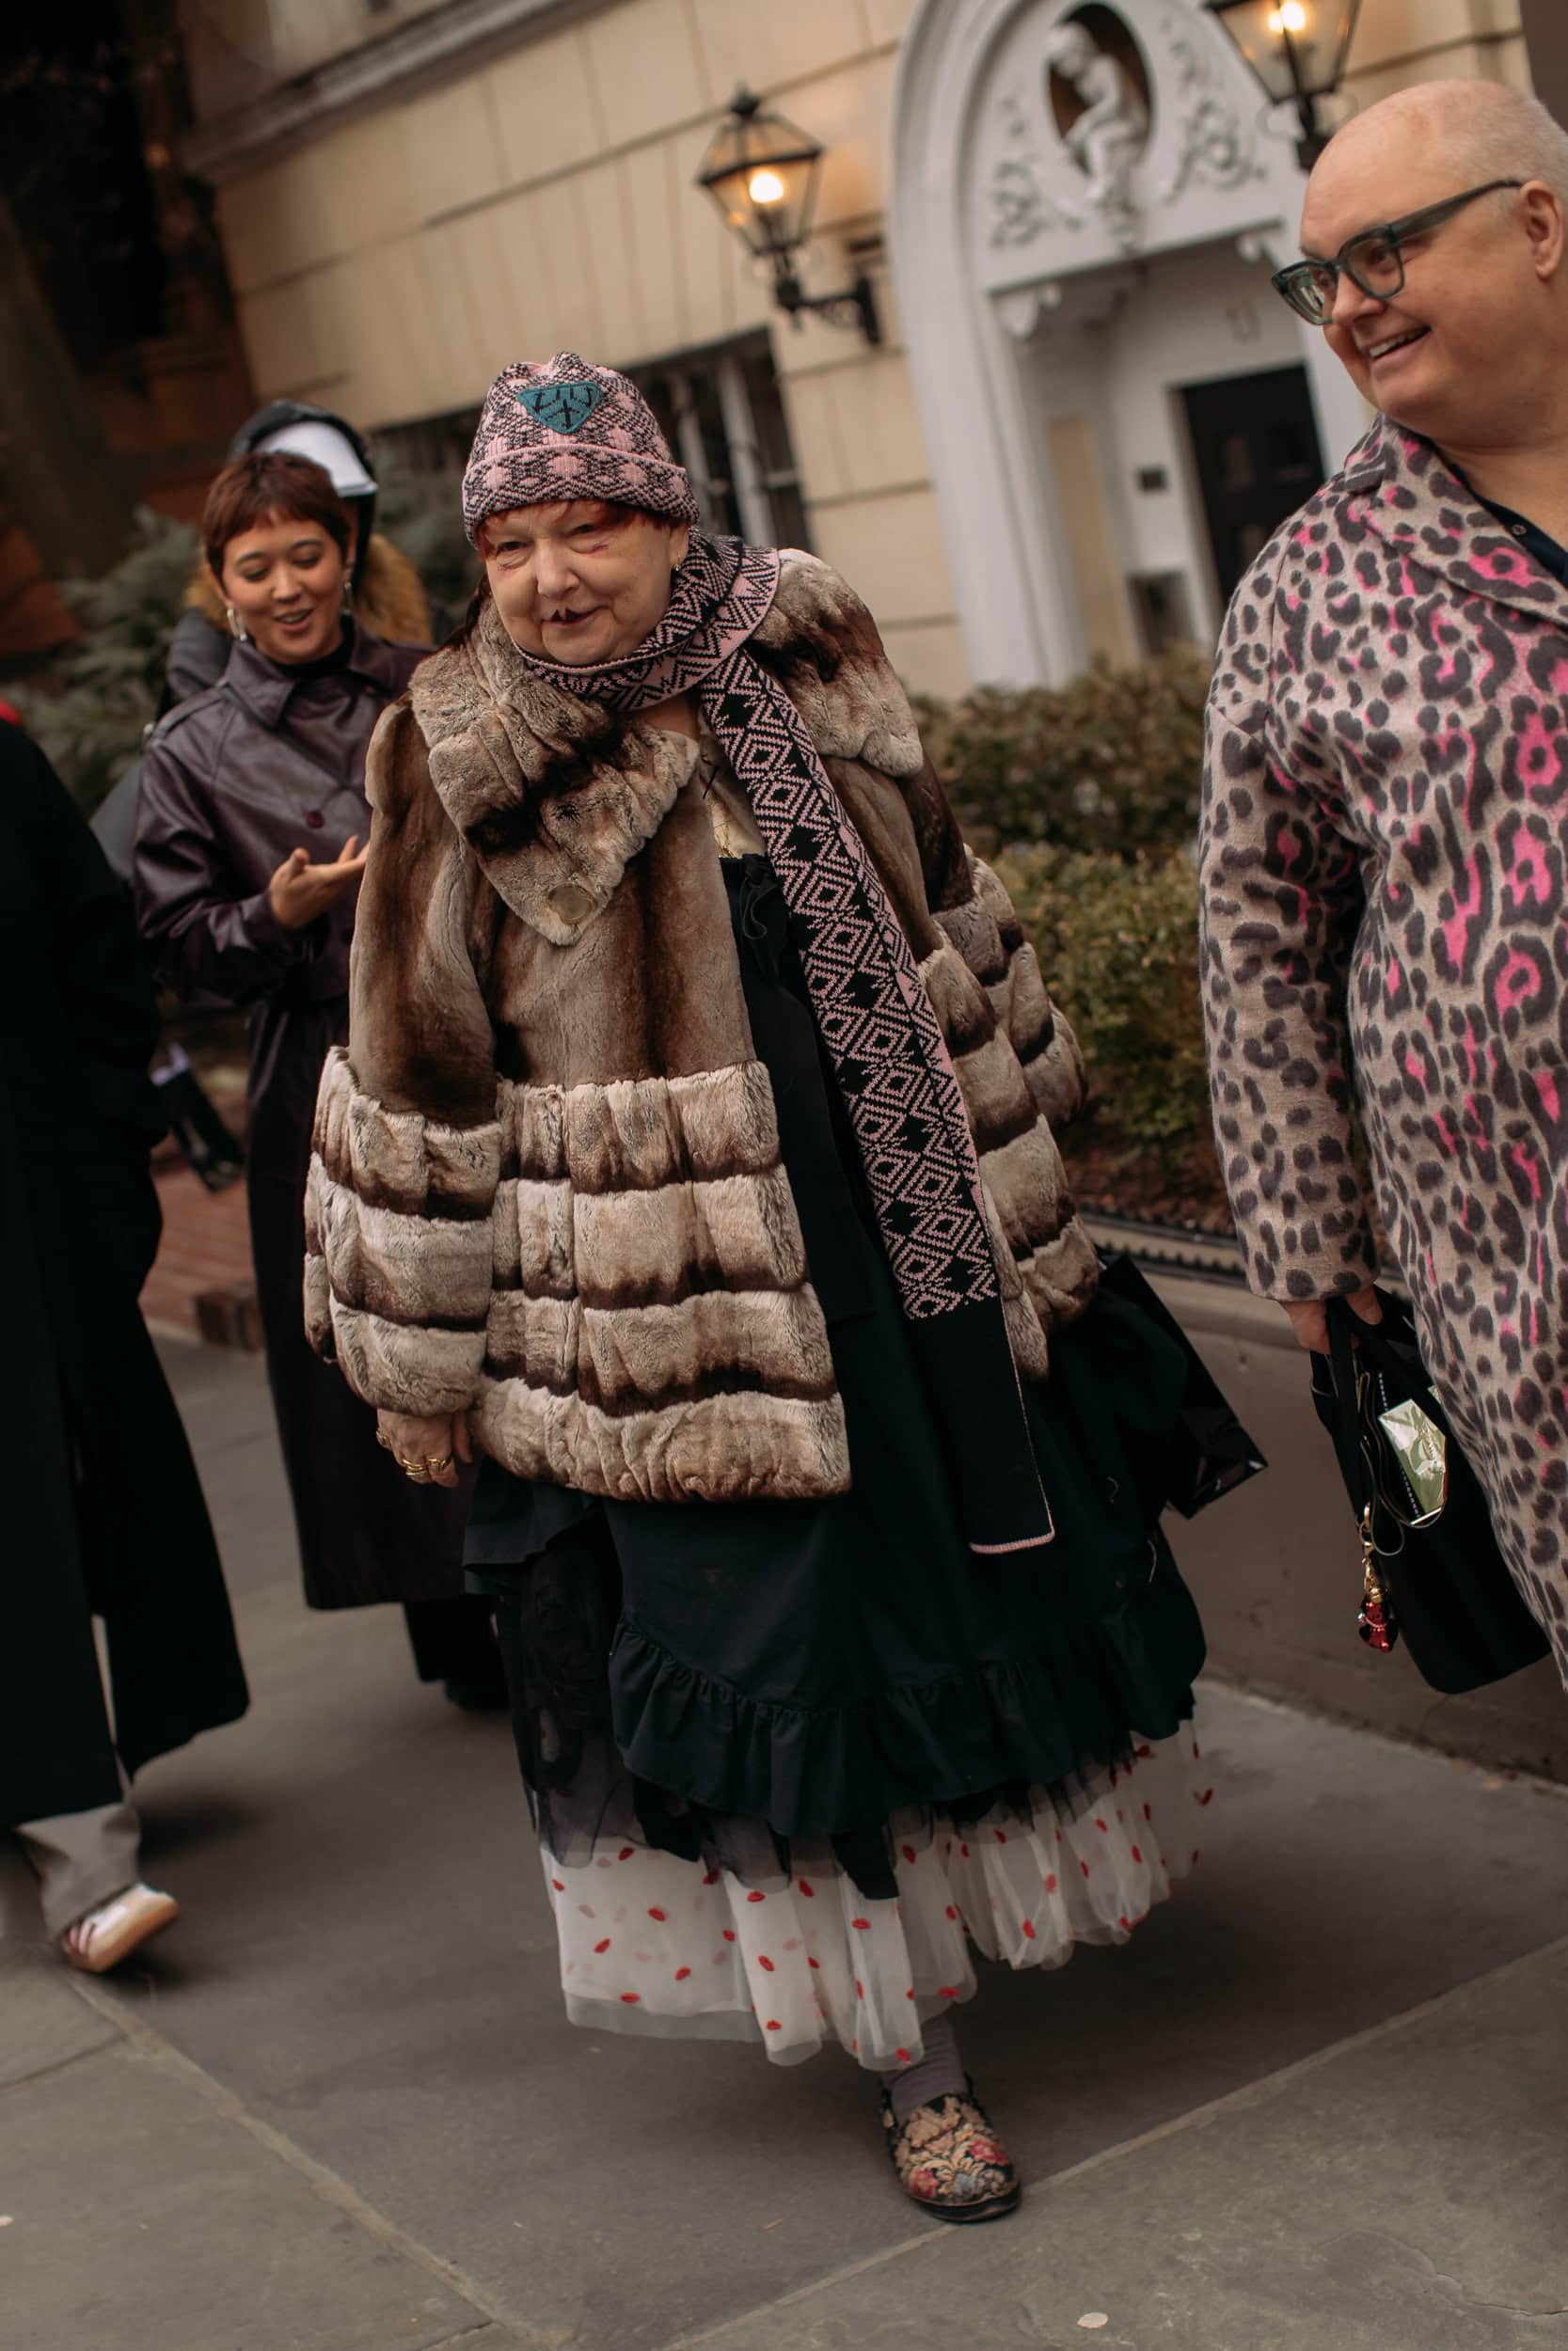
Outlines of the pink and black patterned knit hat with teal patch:
M 463 529 L 477 541 L 489 515 L 552 498 L 698 520 L 686 473 L 637 386 L 571 350 L 548 367 L 517 360 L 491 383 L 463 475 Z

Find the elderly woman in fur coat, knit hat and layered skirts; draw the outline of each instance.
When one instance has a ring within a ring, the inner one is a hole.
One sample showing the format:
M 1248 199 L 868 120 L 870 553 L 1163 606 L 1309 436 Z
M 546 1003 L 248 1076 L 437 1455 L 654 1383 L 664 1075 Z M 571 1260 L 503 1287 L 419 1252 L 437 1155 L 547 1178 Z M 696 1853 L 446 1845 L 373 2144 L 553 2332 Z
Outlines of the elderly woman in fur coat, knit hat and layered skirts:
M 696 529 L 569 353 L 463 503 L 487 583 L 367 766 L 308 1321 L 411 1476 L 482 1455 L 567 2012 L 839 2041 L 987 2219 L 971 1944 L 1121 1942 L 1197 1843 L 1180 1364 L 1095 1300 L 1077 1046 L 865 607 Z

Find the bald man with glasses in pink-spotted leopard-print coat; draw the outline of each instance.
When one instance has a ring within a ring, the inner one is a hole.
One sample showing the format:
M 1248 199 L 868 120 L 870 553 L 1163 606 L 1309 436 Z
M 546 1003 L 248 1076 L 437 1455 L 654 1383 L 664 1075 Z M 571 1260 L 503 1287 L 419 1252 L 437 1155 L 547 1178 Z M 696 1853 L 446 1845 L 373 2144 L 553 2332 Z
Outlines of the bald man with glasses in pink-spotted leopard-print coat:
M 1378 409 L 1237 590 L 1201 962 L 1248 1279 L 1422 1354 L 1568 1681 L 1568 134 L 1495 82 L 1349 122 L 1279 294 Z M 1366 1136 L 1371 1192 L 1352 1157 Z

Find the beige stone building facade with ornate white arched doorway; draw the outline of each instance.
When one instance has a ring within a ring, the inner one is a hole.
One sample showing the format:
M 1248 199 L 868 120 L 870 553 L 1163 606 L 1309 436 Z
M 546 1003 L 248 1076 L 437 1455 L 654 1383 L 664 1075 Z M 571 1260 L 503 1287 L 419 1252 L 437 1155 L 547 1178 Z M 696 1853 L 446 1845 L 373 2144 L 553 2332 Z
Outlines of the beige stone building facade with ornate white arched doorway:
M 1267 287 L 1293 122 L 1199 0 L 200 0 L 186 35 L 261 397 L 449 454 L 508 360 L 628 367 L 712 520 L 804 536 L 922 691 L 1211 637 L 1359 430 Z M 1338 103 L 1434 75 L 1530 87 L 1521 0 L 1363 0 Z M 879 348 L 783 317 L 693 186 L 741 82 L 823 143 L 806 284 L 867 270 Z

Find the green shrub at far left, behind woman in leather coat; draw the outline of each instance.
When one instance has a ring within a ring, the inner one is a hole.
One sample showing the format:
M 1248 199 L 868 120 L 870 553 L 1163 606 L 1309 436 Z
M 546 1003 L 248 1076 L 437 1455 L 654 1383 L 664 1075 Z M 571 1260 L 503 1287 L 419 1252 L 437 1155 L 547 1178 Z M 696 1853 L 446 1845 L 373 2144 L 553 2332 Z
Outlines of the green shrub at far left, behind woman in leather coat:
M 136 541 L 113 571 L 96 581 L 56 581 L 82 635 L 54 656 L 38 684 L 12 689 L 12 696 L 87 816 L 141 750 L 195 555 L 197 534 L 188 522 L 169 522 L 143 505 Z

